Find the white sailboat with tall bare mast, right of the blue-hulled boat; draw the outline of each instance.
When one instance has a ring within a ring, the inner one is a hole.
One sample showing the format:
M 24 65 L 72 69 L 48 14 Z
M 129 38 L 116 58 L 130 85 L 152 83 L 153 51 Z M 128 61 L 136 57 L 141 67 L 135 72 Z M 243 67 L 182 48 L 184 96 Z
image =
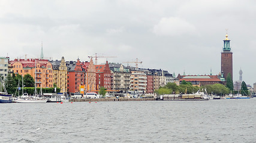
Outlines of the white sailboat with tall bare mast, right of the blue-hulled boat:
M 39 97 L 37 94 L 37 64 L 35 63 L 35 92 L 34 95 L 30 96 L 27 93 L 24 93 L 21 97 L 14 100 L 14 102 L 18 103 L 45 103 L 47 102 L 46 98 L 43 98 L 42 96 Z M 23 84 L 23 80 L 22 80 Z M 23 87 L 22 87 L 23 88 Z

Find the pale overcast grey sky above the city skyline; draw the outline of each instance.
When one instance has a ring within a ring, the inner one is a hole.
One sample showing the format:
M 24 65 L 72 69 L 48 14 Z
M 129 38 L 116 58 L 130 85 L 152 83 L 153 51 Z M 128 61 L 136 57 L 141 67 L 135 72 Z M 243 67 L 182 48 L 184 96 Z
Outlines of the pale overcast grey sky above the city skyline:
M 226 33 L 233 80 L 256 82 L 256 1 L 0 0 L 0 57 L 133 62 L 177 74 L 219 74 Z M 135 66 L 134 63 L 129 63 Z

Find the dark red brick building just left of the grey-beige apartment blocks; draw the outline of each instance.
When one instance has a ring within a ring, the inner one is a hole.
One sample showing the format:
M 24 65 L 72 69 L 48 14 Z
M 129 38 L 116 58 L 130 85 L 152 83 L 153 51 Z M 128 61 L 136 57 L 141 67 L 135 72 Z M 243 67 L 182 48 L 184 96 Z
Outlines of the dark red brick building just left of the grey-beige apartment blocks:
M 95 69 L 96 89 L 99 90 L 103 86 L 107 91 L 113 91 L 113 73 L 109 68 L 109 62 L 106 61 L 104 65 L 95 65 Z

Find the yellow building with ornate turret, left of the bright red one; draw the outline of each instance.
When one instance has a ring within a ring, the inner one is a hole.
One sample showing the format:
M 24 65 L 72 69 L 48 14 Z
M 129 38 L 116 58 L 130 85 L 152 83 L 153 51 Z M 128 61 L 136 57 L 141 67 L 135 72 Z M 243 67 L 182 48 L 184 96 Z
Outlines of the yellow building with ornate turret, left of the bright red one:
M 53 67 L 53 83 L 61 88 L 61 92 L 67 92 L 67 66 L 64 57 L 61 61 L 50 61 Z

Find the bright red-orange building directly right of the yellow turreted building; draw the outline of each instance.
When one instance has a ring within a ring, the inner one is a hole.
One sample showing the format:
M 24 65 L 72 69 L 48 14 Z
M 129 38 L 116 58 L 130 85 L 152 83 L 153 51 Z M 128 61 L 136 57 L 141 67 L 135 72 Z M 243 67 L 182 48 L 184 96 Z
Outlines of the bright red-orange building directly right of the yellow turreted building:
M 85 85 L 85 77 L 86 71 L 81 66 L 79 59 L 76 61 L 68 61 L 67 62 L 68 68 L 68 80 L 67 80 L 67 89 L 70 93 L 80 92 L 79 87 L 81 85 Z

